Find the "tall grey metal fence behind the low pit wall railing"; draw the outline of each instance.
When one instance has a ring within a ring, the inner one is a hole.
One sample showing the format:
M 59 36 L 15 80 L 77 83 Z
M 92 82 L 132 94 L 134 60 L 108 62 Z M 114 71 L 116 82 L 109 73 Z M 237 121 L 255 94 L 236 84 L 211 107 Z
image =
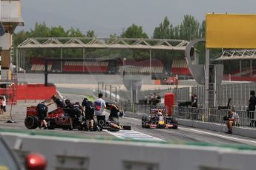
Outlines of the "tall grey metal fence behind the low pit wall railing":
M 231 98 L 230 106 L 236 110 L 246 110 L 249 104 L 250 91 L 256 91 L 256 82 L 251 83 L 230 83 L 214 86 L 212 92 L 212 100 L 214 107 L 226 106 L 229 98 Z M 153 92 L 159 92 L 163 98 L 165 93 L 174 93 L 174 101 L 191 101 L 191 95 L 197 95 L 198 106 L 203 107 L 205 103 L 205 88 L 204 86 L 191 86 L 174 89 L 155 89 L 144 91 L 144 95 L 149 95 Z M 210 99 L 210 98 L 209 98 Z

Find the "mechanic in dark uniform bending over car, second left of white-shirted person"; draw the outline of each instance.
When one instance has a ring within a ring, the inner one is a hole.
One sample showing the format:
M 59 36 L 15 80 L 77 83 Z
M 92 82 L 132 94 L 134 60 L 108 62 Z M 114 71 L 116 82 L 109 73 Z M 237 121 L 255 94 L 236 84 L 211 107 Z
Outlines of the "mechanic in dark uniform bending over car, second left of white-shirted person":
M 69 99 L 65 100 L 65 110 L 68 112 L 68 115 L 70 116 L 69 122 L 70 122 L 70 130 L 73 130 L 73 118 L 79 118 L 82 111 L 82 106 L 80 106 L 79 102 L 71 103 Z

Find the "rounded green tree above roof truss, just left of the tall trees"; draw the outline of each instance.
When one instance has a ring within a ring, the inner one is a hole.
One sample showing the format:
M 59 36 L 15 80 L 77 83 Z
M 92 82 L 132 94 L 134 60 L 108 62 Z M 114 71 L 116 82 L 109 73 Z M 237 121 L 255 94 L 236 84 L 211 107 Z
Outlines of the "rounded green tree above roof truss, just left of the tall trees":
M 130 27 L 125 30 L 125 33 L 122 33 L 122 38 L 148 38 L 148 35 L 143 32 L 141 26 L 132 24 Z

